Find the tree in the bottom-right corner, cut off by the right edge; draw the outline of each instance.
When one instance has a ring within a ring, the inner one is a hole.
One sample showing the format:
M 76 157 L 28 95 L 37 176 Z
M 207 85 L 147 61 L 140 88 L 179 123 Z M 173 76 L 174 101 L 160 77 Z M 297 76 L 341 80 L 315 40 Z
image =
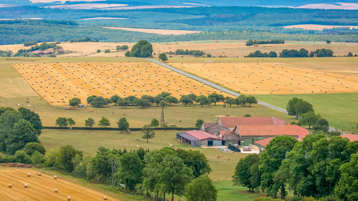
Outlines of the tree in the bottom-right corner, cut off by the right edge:
M 354 185 L 358 181 L 358 154 L 352 154 L 350 162 L 343 164 L 339 171 L 341 177 L 338 185 L 334 189 L 334 194 L 339 198 L 348 201 L 358 200 L 358 187 Z

